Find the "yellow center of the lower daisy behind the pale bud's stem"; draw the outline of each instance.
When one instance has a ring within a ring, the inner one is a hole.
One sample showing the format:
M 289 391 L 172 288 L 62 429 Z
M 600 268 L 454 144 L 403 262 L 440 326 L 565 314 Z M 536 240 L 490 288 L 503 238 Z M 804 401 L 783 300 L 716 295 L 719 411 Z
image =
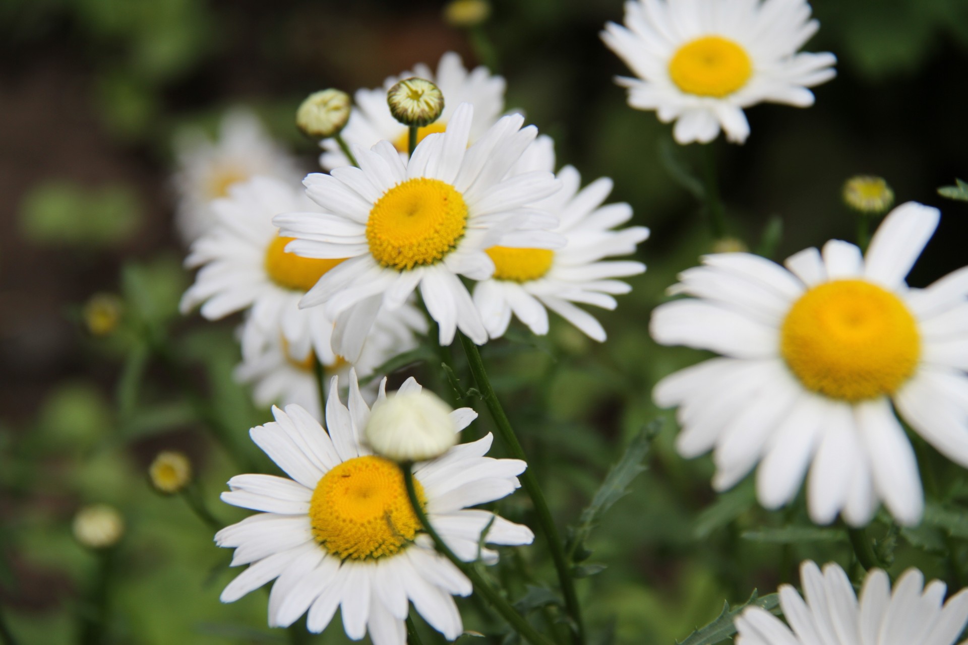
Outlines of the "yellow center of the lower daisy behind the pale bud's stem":
M 413 484 L 426 506 L 423 486 Z M 316 484 L 309 517 L 321 546 L 353 560 L 394 555 L 420 529 L 400 467 L 375 455 L 354 457 L 326 473 Z

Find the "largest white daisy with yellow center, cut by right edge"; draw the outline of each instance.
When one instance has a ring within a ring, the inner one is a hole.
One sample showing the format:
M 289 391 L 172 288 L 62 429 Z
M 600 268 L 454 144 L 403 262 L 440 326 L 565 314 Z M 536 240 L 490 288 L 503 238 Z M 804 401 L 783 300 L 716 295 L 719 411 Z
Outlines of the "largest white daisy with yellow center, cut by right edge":
M 717 489 L 757 471 L 768 509 L 796 495 L 810 466 L 807 508 L 866 524 L 884 502 L 917 524 L 923 512 L 914 450 L 894 414 L 968 466 L 968 267 L 925 289 L 904 282 L 938 225 L 937 209 L 895 208 L 862 257 L 828 242 L 786 269 L 749 253 L 707 255 L 656 308 L 651 334 L 723 354 L 663 379 L 653 396 L 679 405 L 679 452 L 715 449 Z M 893 405 L 893 408 L 892 408 Z

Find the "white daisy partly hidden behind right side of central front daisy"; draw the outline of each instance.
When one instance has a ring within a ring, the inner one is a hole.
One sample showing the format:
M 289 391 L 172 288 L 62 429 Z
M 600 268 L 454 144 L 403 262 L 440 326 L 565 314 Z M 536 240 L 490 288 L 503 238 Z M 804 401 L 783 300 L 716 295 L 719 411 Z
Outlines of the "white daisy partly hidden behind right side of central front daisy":
M 540 136 L 518 162 L 519 172 L 555 170 L 554 142 Z M 646 265 L 634 261 L 602 261 L 615 255 L 635 252 L 637 244 L 649 237 L 649 229 L 632 226 L 612 230 L 632 217 L 628 204 L 602 202 L 612 191 L 612 180 L 602 177 L 579 190 L 581 175 L 566 165 L 558 173 L 561 190 L 538 202 L 560 218 L 555 232 L 566 240 L 561 249 L 512 248 L 516 234 L 501 240 L 512 247 L 487 249 L 495 264 L 494 277 L 474 286 L 474 304 L 481 312 L 484 326 L 492 338 L 507 330 L 513 313 L 531 332 L 548 333 L 549 308 L 572 325 L 598 341 L 605 330 L 587 311 L 572 303 L 614 309 L 613 295 L 628 293 L 631 287 L 617 278 L 635 276 Z

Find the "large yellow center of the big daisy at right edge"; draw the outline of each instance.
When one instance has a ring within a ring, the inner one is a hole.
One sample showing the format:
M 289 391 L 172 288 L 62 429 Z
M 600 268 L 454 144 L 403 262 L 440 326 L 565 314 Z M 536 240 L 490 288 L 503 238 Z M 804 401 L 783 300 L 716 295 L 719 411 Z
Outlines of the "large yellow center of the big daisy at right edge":
M 891 395 L 914 373 L 921 337 L 897 296 L 842 279 L 815 286 L 794 303 L 780 352 L 808 390 L 858 401 Z

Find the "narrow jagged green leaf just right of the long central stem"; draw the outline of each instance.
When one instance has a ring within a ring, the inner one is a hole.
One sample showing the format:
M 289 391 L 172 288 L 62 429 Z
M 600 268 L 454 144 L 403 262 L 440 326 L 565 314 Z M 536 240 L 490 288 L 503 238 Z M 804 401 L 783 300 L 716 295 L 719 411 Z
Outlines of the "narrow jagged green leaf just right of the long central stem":
M 632 443 L 625 449 L 619 462 L 612 466 L 612 469 L 605 476 L 598 490 L 591 498 L 591 503 L 578 519 L 578 526 L 570 531 L 568 543 L 568 555 L 572 562 L 581 562 L 590 555 L 590 551 L 585 547 L 591 529 L 598 523 L 598 519 L 603 513 L 612 508 L 616 502 L 628 493 L 628 484 L 632 483 L 639 473 L 646 467 L 642 465 L 642 460 L 649 453 L 652 439 L 662 428 L 662 421 L 656 419 L 649 425 L 643 427 L 639 434 L 632 439 Z

